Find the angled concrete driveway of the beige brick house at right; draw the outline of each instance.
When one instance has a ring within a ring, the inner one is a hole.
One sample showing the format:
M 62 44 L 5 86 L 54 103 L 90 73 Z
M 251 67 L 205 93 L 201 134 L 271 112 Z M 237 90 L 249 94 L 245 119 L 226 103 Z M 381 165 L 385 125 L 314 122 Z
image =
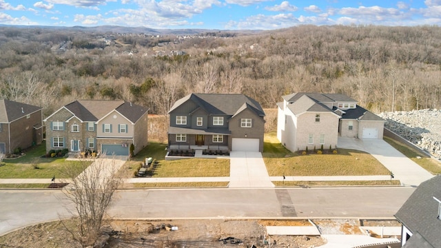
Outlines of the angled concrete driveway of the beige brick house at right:
M 338 138 L 338 147 L 368 152 L 384 167 L 393 172 L 394 179 L 400 180 L 403 186 L 417 187 L 420 183 L 433 177 L 430 172 L 427 172 L 382 139 L 340 137 Z

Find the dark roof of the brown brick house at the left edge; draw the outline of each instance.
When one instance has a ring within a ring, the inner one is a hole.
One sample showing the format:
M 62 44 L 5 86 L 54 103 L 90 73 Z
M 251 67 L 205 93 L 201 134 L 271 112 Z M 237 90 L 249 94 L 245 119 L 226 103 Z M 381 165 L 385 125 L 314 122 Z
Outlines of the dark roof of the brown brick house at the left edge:
M 32 114 L 41 109 L 41 107 L 37 107 L 34 105 L 1 99 L 0 123 L 11 123 L 12 121 L 15 121 L 23 116 L 27 116 L 28 114 Z

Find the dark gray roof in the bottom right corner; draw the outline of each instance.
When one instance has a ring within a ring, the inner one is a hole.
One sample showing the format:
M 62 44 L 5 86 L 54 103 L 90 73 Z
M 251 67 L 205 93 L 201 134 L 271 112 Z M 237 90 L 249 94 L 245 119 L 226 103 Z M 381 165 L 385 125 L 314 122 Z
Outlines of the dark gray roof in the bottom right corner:
M 441 175 L 435 176 L 418 186 L 409 199 L 396 213 L 396 218 L 413 235 L 408 242 L 428 242 L 432 247 L 441 247 L 441 220 L 438 218 L 437 200 L 441 200 Z M 419 234 L 415 235 L 415 234 Z M 429 247 L 423 243 L 413 247 Z

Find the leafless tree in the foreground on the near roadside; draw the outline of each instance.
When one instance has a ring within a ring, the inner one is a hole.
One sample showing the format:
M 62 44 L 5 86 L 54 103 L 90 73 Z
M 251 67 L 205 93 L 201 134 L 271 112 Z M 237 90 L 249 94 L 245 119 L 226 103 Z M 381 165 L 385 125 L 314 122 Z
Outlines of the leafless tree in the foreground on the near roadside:
M 97 158 L 89 164 L 79 161 L 67 166 L 65 176 L 71 183 L 63 188 L 65 196 L 74 204 L 68 211 L 79 219 L 77 229 L 65 227 L 82 247 L 94 245 L 101 236 L 107 209 L 121 184 L 119 163 L 115 159 Z

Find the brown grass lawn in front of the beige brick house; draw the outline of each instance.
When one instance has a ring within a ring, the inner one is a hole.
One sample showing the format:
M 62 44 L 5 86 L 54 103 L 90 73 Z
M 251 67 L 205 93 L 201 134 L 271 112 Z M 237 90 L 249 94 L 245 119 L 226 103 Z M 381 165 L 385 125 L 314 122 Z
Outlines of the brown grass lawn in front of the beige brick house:
M 269 176 L 369 176 L 389 175 L 380 162 L 366 152 L 338 149 L 332 154 L 309 151 L 307 155 L 289 152 L 274 132 L 265 135 L 263 152 Z

